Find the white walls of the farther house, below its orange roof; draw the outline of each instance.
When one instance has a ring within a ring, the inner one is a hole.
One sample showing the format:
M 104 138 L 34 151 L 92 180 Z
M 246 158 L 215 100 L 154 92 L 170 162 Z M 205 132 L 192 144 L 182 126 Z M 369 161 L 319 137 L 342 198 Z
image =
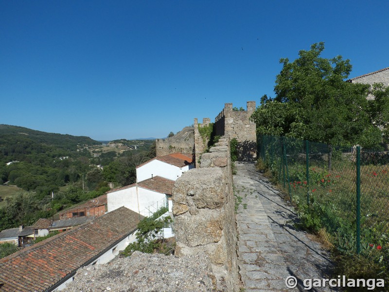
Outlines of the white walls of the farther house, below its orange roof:
M 138 182 L 151 179 L 151 175 L 160 176 L 165 179 L 176 181 L 183 172 L 189 170 L 189 166 L 177 167 L 172 164 L 165 163 L 154 159 L 149 163 L 146 163 L 137 168 L 137 180 Z

